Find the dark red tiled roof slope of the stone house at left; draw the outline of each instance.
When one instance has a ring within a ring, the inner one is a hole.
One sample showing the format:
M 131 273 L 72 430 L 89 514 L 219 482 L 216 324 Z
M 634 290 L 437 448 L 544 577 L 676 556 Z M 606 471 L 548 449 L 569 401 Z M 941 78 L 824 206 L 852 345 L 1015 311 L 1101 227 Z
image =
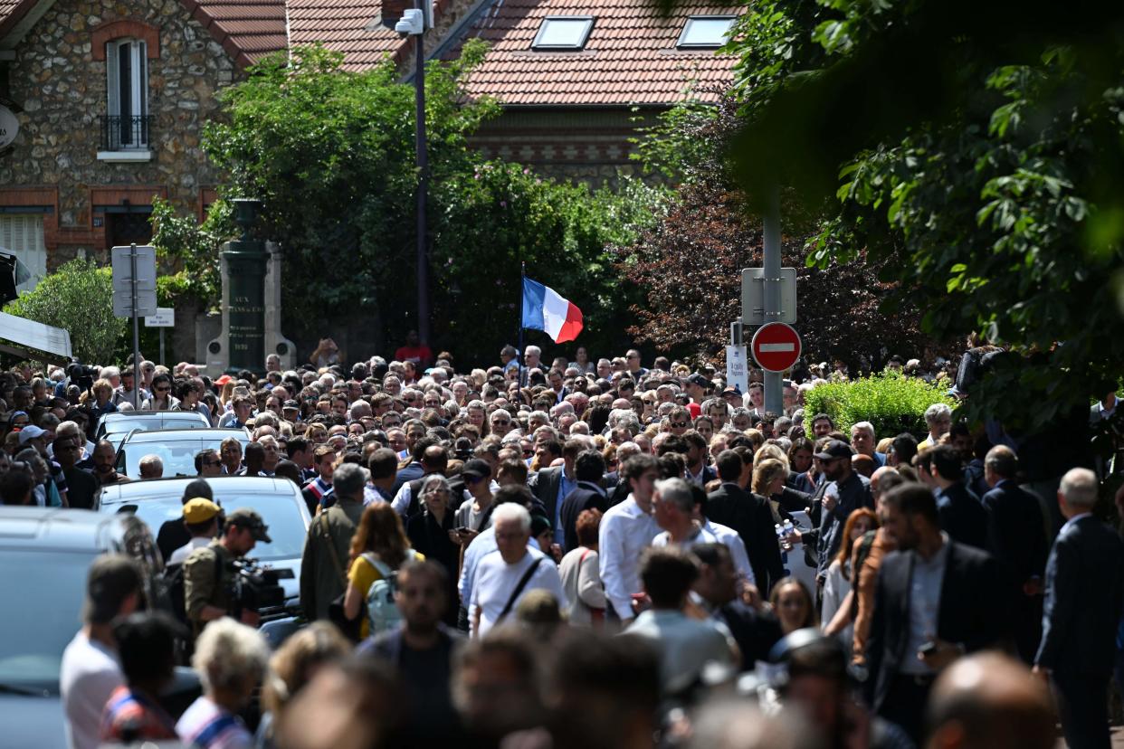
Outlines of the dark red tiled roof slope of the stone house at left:
M 2 2 L 3 0 L 0 0 Z M 284 49 L 284 0 L 180 0 L 192 17 L 245 66 Z

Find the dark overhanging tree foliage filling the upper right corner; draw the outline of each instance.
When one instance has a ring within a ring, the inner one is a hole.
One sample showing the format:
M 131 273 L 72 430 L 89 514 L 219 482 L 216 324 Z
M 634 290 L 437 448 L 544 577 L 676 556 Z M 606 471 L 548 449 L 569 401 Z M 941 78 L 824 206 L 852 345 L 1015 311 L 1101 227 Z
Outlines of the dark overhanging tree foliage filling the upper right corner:
M 779 180 L 809 204 L 827 197 L 809 262 L 864 256 L 898 284 L 889 309 L 916 304 L 926 332 L 1017 355 L 972 392 L 973 417 L 1048 423 L 1124 365 L 1122 17 L 763 0 L 731 45 L 747 194 Z

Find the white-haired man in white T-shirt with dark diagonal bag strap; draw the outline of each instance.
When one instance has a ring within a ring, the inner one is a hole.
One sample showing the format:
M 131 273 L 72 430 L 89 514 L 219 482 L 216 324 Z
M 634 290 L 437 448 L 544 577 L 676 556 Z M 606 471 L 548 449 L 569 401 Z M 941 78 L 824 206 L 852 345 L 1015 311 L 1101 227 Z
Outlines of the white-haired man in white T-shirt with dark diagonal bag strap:
M 472 587 L 469 621 L 473 638 L 501 623 L 527 591 L 547 591 L 558 599 L 562 611 L 569 608 L 554 561 L 527 547 L 531 540 L 527 509 L 516 502 L 500 504 L 492 512 L 492 528 L 497 549 L 480 560 Z

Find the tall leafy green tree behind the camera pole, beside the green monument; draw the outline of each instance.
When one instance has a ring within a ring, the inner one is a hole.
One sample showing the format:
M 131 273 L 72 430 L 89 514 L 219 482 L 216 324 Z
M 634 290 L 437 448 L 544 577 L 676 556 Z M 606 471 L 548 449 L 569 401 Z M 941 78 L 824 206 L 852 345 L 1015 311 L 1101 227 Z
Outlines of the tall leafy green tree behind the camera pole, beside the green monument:
M 427 70 L 435 181 L 464 168 L 465 136 L 496 112 L 490 101 L 462 101 L 460 80 L 481 55 L 470 44 L 457 62 Z M 342 62 L 321 47 L 266 58 L 224 91 L 227 118 L 203 136 L 230 175 L 227 197 L 262 200 L 263 232 L 283 240 L 287 298 L 316 305 L 314 316 L 292 316 L 301 331 L 362 308 L 400 307 L 414 273 L 414 89 L 389 58 L 361 73 Z

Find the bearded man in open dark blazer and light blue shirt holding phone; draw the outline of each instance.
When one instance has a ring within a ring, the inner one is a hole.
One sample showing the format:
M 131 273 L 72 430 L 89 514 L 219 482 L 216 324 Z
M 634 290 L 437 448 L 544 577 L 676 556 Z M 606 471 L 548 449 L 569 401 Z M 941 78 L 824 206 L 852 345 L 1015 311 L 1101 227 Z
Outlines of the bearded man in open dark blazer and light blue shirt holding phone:
M 882 495 L 879 512 L 899 550 L 887 554 L 879 570 L 867 641 L 867 698 L 919 743 L 936 674 L 1005 636 L 1006 588 L 995 559 L 941 531 L 926 486 L 894 487 Z

